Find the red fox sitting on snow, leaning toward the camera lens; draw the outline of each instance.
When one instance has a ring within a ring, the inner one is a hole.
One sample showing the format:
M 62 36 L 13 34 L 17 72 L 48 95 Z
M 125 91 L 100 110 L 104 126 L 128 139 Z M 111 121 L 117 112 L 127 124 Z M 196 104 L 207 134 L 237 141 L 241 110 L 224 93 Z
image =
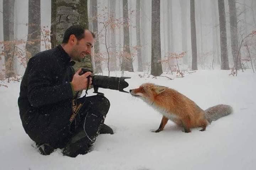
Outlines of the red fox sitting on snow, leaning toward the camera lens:
M 141 98 L 163 115 L 158 130 L 154 132 L 162 131 L 169 119 L 182 126 L 186 133 L 191 132 L 190 128 L 197 127 L 201 127 L 200 131 L 204 131 L 212 121 L 233 112 L 232 107 L 225 104 L 219 104 L 203 111 L 195 102 L 178 91 L 151 83 L 131 89 L 130 94 Z

